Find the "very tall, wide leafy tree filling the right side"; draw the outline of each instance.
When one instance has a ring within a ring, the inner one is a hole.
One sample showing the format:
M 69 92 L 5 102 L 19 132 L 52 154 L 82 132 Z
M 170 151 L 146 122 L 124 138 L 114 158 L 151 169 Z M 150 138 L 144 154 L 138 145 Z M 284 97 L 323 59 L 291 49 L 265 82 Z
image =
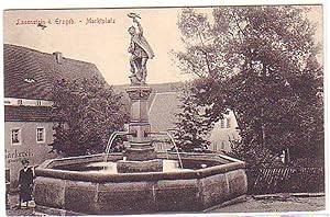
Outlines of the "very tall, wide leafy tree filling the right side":
M 231 108 L 241 128 L 242 158 L 272 161 L 282 151 L 315 156 L 323 145 L 321 46 L 306 7 L 221 7 L 208 14 L 184 9 L 178 27 L 184 72 L 197 76 L 196 103 L 210 122 Z M 304 150 L 304 151 L 301 151 Z

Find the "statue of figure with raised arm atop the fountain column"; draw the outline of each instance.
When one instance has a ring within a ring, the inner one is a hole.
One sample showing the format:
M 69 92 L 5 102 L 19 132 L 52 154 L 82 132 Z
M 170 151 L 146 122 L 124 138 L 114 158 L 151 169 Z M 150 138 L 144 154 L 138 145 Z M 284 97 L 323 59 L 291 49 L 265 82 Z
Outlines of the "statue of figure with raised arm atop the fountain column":
M 143 36 L 143 28 L 138 21 L 140 19 L 139 14 L 136 13 L 129 13 L 129 18 L 133 19 L 133 23 L 138 26 L 136 28 L 132 25 L 129 28 L 129 33 L 131 35 L 131 43 L 128 52 L 131 55 L 130 58 L 130 67 L 132 75 L 130 76 L 132 84 L 145 84 L 146 81 L 146 61 L 154 57 L 154 52 L 146 42 L 145 37 Z

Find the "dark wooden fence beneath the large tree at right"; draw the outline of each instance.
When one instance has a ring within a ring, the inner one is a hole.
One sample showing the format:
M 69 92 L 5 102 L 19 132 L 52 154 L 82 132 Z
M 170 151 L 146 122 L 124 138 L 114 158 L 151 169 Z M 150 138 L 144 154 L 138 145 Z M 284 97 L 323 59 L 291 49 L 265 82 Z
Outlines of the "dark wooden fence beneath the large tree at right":
M 260 168 L 246 170 L 250 194 L 324 192 L 324 168 Z

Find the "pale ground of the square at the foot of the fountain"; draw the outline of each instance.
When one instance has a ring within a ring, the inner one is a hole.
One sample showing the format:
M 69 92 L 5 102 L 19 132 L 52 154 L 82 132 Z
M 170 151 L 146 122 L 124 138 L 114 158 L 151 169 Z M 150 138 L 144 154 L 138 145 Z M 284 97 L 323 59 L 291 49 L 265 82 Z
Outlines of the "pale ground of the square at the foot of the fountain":
M 8 216 L 32 216 L 34 203 L 30 202 L 30 207 L 22 206 L 18 209 L 19 196 L 10 195 L 9 204 L 7 206 Z M 233 204 L 230 206 L 209 210 L 210 213 L 264 213 L 264 212 L 317 212 L 326 209 L 324 196 L 317 197 L 288 197 L 280 198 L 267 198 L 267 199 L 254 199 L 248 196 L 246 202 Z

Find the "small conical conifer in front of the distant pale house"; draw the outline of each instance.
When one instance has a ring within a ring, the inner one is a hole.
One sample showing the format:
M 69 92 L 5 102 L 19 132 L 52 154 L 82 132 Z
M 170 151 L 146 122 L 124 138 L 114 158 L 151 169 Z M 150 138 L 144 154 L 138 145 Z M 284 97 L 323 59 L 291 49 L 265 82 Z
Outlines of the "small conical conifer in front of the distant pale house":
M 180 98 L 180 112 L 176 114 L 177 123 L 174 132 L 176 146 L 179 150 L 187 152 L 206 150 L 209 141 L 205 137 L 209 125 L 204 116 L 204 107 L 194 102 L 195 96 L 189 89 L 184 90 Z

